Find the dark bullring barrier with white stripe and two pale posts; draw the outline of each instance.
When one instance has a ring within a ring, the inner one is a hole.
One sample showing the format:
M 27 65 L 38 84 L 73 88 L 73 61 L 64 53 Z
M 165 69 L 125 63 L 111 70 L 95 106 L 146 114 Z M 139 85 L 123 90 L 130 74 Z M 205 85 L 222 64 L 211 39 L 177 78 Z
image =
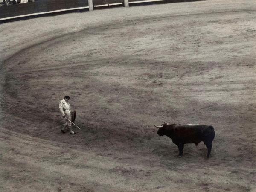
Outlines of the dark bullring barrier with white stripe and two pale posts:
M 129 4 L 164 1 L 182 2 L 195 0 L 34 0 L 34 2 L 0 6 L 0 21 L 81 9 L 92 11 L 97 7 L 104 6 L 128 7 Z

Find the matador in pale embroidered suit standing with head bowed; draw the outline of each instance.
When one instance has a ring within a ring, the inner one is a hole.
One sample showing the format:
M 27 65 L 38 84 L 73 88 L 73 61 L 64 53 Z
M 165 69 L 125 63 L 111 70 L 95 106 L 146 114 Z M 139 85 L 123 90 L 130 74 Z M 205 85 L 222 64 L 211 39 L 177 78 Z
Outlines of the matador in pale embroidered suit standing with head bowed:
M 59 108 L 61 111 L 61 115 L 64 119 L 68 119 L 71 121 L 71 111 L 70 111 L 70 104 L 68 103 L 68 100 L 70 100 L 69 96 L 65 96 L 63 100 L 59 102 Z M 62 133 L 66 133 L 66 128 L 68 127 L 68 130 L 70 131 L 70 134 L 75 134 L 74 131 L 72 131 L 71 128 L 71 122 L 66 119 L 66 123 L 64 127 L 61 129 Z

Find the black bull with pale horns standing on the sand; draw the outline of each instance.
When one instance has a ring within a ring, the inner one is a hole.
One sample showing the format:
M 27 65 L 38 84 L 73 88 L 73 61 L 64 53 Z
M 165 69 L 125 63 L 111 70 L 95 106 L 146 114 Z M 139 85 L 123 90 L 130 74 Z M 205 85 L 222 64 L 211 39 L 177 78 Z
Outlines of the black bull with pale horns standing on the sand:
M 159 136 L 166 135 L 172 139 L 172 142 L 179 148 L 179 156 L 183 154 L 183 147 L 185 143 L 198 143 L 204 141 L 207 147 L 207 158 L 209 158 L 212 150 L 212 140 L 215 137 L 214 128 L 210 125 L 169 125 L 164 123 L 159 128 L 157 134 Z

